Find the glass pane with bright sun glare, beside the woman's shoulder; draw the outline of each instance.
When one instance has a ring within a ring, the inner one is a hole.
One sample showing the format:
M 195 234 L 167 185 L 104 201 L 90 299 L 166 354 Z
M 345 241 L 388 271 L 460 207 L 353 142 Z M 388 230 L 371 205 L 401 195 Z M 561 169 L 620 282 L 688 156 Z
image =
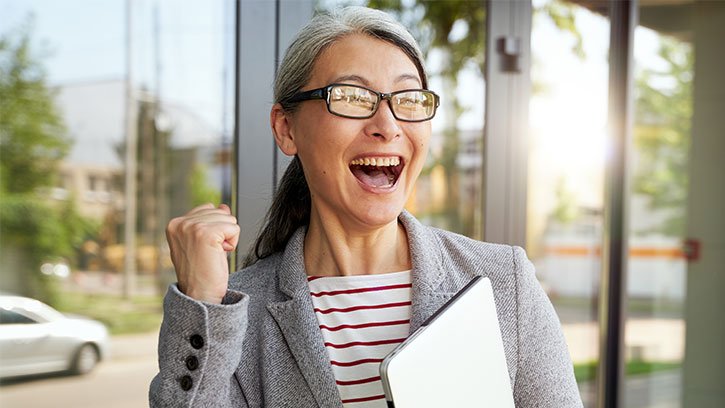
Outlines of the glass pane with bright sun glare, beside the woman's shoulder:
M 533 2 L 526 250 L 593 407 L 610 24 L 605 2 L 576 3 Z

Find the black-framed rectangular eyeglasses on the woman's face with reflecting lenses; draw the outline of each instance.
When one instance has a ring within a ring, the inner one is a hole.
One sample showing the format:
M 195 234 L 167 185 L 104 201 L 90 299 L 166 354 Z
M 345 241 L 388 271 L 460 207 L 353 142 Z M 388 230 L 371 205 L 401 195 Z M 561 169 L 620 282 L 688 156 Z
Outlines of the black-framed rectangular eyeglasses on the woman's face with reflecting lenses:
M 372 117 L 378 111 L 380 102 L 387 99 L 395 119 L 405 122 L 430 120 L 440 105 L 440 97 L 427 89 L 405 89 L 382 93 L 364 86 L 347 84 L 332 84 L 300 92 L 287 99 L 287 102 L 314 99 L 324 99 L 330 113 L 353 119 Z

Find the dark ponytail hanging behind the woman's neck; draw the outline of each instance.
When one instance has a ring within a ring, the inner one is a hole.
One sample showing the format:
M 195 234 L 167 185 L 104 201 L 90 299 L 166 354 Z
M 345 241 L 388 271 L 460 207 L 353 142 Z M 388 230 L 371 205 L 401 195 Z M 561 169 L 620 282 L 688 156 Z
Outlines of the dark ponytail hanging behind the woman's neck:
M 302 170 L 302 162 L 295 156 L 279 182 L 272 205 L 265 216 L 264 226 L 242 267 L 246 268 L 275 252 L 283 251 L 292 234 L 299 227 L 310 223 L 311 205 L 310 189 Z

